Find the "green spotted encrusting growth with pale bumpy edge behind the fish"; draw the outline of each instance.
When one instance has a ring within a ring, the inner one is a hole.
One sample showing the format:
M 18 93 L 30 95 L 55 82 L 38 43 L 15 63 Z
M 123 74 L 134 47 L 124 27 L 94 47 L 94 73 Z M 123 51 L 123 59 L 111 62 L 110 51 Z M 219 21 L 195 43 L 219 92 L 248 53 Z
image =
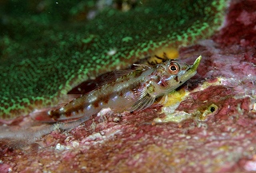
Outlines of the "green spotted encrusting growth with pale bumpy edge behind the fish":
M 54 105 L 82 81 L 156 49 L 210 37 L 222 25 L 226 3 L 145 0 L 124 11 L 103 0 L 2 2 L 0 119 Z

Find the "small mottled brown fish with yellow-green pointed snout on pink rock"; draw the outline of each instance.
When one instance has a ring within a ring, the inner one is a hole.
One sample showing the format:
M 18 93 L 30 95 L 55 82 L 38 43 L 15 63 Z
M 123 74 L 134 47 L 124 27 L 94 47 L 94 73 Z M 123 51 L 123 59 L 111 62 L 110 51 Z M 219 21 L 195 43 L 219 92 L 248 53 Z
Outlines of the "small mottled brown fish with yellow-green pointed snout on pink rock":
M 139 111 L 150 107 L 159 96 L 178 88 L 197 73 L 201 61 L 199 56 L 194 65 L 169 60 L 158 65 L 135 65 L 132 71 L 118 71 L 116 80 L 106 83 L 85 95 L 70 101 L 65 106 L 47 112 L 53 120 L 72 120 L 111 108 L 114 112 Z M 125 74 L 127 73 L 127 74 Z M 39 113 L 35 119 L 44 120 Z

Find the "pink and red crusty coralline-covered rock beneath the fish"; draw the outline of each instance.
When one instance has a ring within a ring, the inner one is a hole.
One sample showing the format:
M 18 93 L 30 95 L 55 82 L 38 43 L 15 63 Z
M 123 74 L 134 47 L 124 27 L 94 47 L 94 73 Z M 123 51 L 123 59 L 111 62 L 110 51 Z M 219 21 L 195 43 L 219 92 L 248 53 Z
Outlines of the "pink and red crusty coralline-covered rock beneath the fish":
M 30 145 L 0 144 L 0 172 L 251 172 L 256 171 L 256 2 L 231 2 L 212 40 L 182 48 L 198 55 L 198 74 L 175 112 L 190 117 L 156 123 L 156 106 L 94 116 L 70 131 L 58 128 Z M 201 117 L 206 110 L 208 114 Z

